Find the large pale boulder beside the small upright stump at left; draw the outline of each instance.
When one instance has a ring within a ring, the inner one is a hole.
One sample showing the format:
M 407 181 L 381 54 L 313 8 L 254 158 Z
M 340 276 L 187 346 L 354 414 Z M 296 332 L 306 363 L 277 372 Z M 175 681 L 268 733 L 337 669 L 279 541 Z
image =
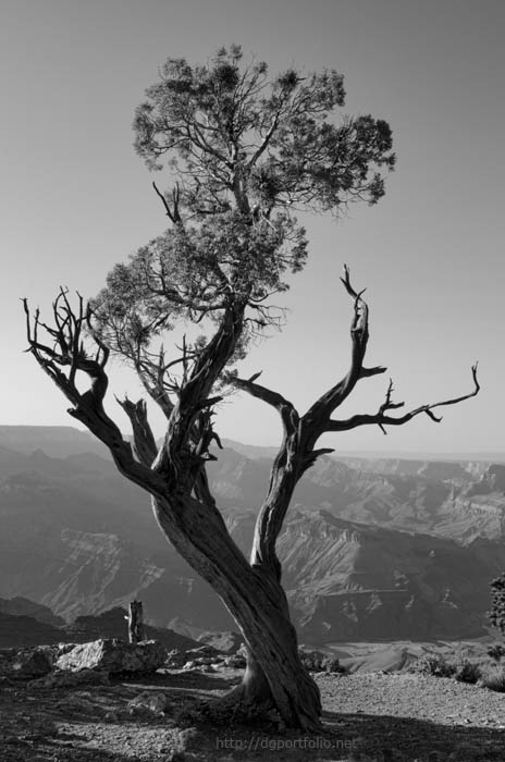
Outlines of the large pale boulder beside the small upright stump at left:
M 149 674 L 163 666 L 167 649 L 156 640 L 127 643 L 116 638 L 94 640 L 76 646 L 62 654 L 56 666 L 59 669 L 79 672 L 97 669 L 110 675 L 121 673 Z

